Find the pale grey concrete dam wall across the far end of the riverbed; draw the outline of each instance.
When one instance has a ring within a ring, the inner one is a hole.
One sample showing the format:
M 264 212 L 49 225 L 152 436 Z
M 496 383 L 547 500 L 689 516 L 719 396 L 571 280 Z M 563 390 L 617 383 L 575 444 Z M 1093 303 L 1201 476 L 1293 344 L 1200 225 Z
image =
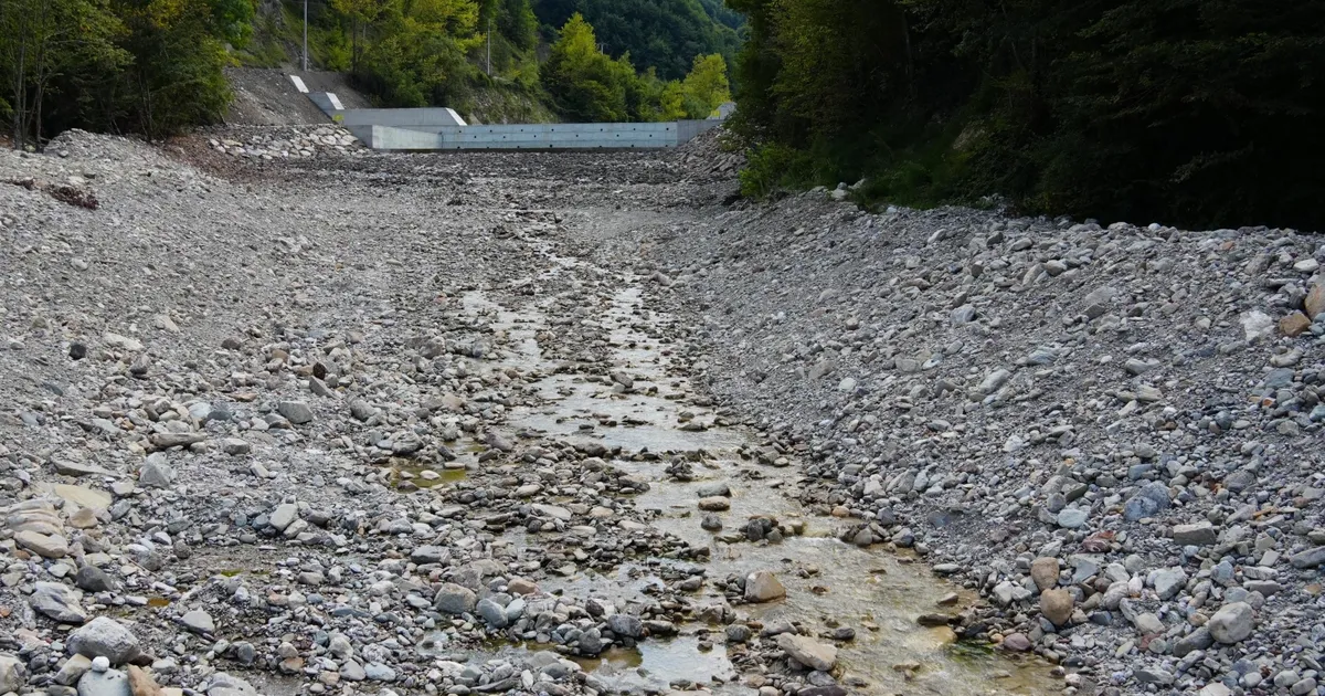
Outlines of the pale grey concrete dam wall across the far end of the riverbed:
M 465 123 L 453 109 L 344 109 L 330 91 L 307 91 L 292 82 L 327 117 L 374 150 L 660 150 L 684 145 L 722 123 Z M 730 109 L 719 110 L 723 117 Z

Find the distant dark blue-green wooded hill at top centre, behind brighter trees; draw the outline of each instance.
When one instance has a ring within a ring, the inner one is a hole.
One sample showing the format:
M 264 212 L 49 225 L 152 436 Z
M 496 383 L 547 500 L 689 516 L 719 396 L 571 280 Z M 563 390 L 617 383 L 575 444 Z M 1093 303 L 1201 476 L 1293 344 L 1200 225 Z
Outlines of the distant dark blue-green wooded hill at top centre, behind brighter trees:
M 662 80 L 680 80 L 694 56 L 731 58 L 741 44 L 735 29 L 710 16 L 700 0 L 538 0 L 534 11 L 550 27 L 580 15 L 598 28 L 608 54 L 629 54 Z

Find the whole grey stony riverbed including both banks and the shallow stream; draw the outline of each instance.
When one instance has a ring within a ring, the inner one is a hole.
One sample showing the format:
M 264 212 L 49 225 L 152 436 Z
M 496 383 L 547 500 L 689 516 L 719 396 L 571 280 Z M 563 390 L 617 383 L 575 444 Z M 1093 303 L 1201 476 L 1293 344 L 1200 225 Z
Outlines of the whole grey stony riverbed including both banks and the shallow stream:
M 311 137 L 0 155 L 0 692 L 1325 692 L 1320 236 Z

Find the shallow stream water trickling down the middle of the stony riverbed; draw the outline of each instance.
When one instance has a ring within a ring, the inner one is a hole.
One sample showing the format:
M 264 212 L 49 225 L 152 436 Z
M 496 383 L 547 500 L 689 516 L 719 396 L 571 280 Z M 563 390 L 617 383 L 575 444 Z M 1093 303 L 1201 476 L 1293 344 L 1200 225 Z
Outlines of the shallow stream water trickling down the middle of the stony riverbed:
M 510 358 L 522 367 L 539 370 L 537 383 L 542 404 L 509 412 L 514 430 L 533 430 L 570 441 L 596 441 L 620 447 L 623 457 L 612 461 L 629 473 L 645 477 L 652 488 L 633 498 L 637 509 L 653 510 L 651 526 L 712 550 L 705 563 L 708 582 L 694 595 L 698 603 L 722 603 L 714 579 L 771 570 L 787 589 L 784 601 L 735 607 L 742 620 L 765 627 L 796 622 L 816 634 L 851 628 L 852 640 L 840 642 L 839 662 L 844 679 L 863 680 L 869 693 L 1037 695 L 1056 693 L 1061 685 L 1049 667 L 1035 660 L 1015 660 L 984 646 L 962 644 L 947 627 L 925 627 L 917 619 L 929 614 L 957 615 L 977 598 L 934 577 L 924 563 L 884 551 L 861 549 L 836 540 L 847 521 L 806 513 L 796 502 L 798 473 L 742 460 L 750 443 L 742 431 L 722 427 L 721 416 L 702 406 L 689 382 L 672 366 L 670 349 L 661 327 L 670 321 L 643 309 L 639 288 L 615 294 L 599 321 L 611 335 L 612 366 L 608 375 L 553 374 L 541 362 L 537 335 L 546 325 L 537 309 L 511 312 L 482 293 L 466 293 L 465 312 L 490 321 L 505 331 Z M 505 357 L 504 357 L 505 358 Z M 677 481 L 666 473 L 677 457 L 633 457 L 639 452 L 688 453 L 693 481 Z M 627 453 L 632 456 L 627 456 Z M 716 494 L 727 509 L 701 510 L 700 500 Z M 721 529 L 701 526 L 714 514 Z M 770 518 L 767 534 L 747 534 L 751 518 Z M 772 522 L 775 520 L 775 524 Z M 750 538 L 763 541 L 750 541 Z M 549 578 L 546 590 L 564 590 L 579 597 L 645 601 L 668 559 L 627 563 L 611 577 L 596 573 Z M 665 574 L 665 573 L 664 573 Z M 682 627 L 682 634 L 697 627 Z M 665 691 L 678 681 L 726 684 L 735 677 L 721 627 L 713 650 L 701 639 L 682 635 L 670 640 L 645 640 L 637 650 L 615 650 L 599 660 L 583 663 L 612 688 Z M 700 631 L 709 630 L 698 627 Z M 827 639 L 824 639 L 827 640 Z M 539 646 L 506 650 L 541 650 Z M 723 693 L 753 693 L 726 684 Z

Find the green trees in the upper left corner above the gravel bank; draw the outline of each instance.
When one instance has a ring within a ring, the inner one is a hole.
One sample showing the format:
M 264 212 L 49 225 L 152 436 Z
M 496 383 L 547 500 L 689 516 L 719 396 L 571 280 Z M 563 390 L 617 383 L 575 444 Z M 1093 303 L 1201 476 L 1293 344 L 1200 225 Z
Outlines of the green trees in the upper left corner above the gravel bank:
M 245 37 L 248 1 L 0 1 L 0 117 L 15 145 L 74 126 L 156 138 L 219 118 L 223 41 Z

